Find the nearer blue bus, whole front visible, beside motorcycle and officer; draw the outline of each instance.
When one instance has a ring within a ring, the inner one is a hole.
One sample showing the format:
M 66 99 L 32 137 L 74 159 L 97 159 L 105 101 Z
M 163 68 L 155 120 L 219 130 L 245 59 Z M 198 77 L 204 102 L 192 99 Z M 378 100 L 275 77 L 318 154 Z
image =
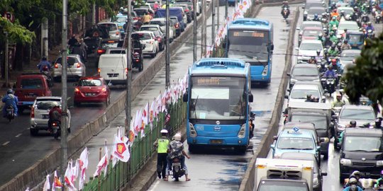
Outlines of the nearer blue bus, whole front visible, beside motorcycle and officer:
M 252 102 L 250 64 L 240 59 L 206 58 L 189 67 L 187 144 L 234 147 L 245 152 L 249 144 Z

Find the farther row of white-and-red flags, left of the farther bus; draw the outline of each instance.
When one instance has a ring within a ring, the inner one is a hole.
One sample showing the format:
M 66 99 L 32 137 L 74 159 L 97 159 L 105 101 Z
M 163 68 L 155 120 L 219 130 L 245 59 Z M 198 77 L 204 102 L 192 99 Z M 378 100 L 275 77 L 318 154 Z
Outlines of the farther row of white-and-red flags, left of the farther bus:
M 211 42 L 209 42 L 209 45 L 206 48 L 206 54 L 205 57 L 210 57 L 211 54 L 213 54 L 213 50 L 215 47 L 219 47 L 221 45 L 221 42 L 225 39 L 227 35 L 227 27 L 228 25 L 233 22 L 237 18 L 243 18 L 245 16 L 246 11 L 251 7 L 252 0 L 240 0 L 235 6 L 235 11 L 231 16 L 228 16 L 226 20 L 224 21 L 223 25 L 221 25 L 216 32 L 216 38 L 214 39 L 214 45 L 211 45 Z

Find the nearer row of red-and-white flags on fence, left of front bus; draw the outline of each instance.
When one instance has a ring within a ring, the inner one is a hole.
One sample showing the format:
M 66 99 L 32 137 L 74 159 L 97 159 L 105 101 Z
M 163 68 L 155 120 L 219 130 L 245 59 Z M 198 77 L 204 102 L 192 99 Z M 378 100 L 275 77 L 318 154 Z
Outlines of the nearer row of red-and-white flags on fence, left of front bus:
M 117 134 L 114 135 L 113 144 L 111 146 L 111 153 L 109 149 L 104 146 L 104 156 L 101 157 L 94 172 L 94 177 L 99 176 L 101 171 L 104 171 L 106 176 L 106 170 L 109 166 L 109 160 L 111 160 L 112 166 L 116 166 L 117 161 L 128 162 L 131 157 L 130 146 L 133 145 L 135 137 L 145 137 L 145 126 L 150 125 L 152 130 L 153 122 L 158 117 L 160 112 L 167 112 L 167 105 L 177 103 L 179 98 L 185 93 L 187 88 L 187 74 L 182 79 L 178 79 L 177 83 L 173 83 L 165 89 L 164 93 L 160 93 L 157 98 L 145 105 L 144 108 L 137 110 L 129 128 L 128 137 L 124 135 L 123 127 L 117 127 Z M 57 171 L 54 172 L 54 178 L 52 184 L 50 183 L 50 175 L 46 176 L 45 183 L 43 185 L 43 191 L 55 190 L 62 188 L 63 185 L 67 187 L 67 190 L 82 190 L 84 189 L 84 183 L 86 182 L 86 170 L 88 168 L 88 149 L 85 148 L 76 161 L 72 159 L 68 162 L 67 170 L 65 170 L 65 180 L 61 180 L 57 176 Z M 77 181 L 78 180 L 78 181 Z M 27 189 L 29 190 L 29 189 Z

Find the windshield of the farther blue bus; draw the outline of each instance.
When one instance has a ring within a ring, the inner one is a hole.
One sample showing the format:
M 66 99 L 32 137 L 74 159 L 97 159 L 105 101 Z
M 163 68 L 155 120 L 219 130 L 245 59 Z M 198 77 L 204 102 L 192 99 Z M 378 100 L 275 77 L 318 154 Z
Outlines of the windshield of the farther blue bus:
M 229 30 L 228 57 L 268 60 L 269 32 L 265 30 Z

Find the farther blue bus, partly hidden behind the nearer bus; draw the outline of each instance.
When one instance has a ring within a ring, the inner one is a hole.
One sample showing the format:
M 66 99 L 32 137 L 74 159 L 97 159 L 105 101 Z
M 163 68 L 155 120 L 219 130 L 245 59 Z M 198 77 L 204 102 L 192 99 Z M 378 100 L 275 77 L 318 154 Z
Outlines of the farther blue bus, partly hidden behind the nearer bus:
M 225 54 L 228 58 L 250 63 L 252 82 L 270 83 L 272 42 L 272 23 L 256 18 L 239 18 L 228 25 Z

